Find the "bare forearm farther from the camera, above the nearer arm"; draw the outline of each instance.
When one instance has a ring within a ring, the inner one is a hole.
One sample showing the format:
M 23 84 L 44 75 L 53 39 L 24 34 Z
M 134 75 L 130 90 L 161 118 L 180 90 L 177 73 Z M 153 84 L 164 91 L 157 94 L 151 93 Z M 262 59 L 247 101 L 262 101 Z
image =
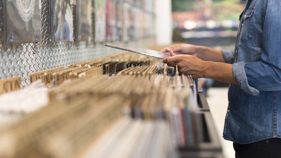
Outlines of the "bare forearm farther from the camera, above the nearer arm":
M 213 61 L 213 62 L 225 62 L 223 58 L 223 54 L 221 51 L 205 47 L 205 46 L 196 46 L 195 56 L 205 61 Z

